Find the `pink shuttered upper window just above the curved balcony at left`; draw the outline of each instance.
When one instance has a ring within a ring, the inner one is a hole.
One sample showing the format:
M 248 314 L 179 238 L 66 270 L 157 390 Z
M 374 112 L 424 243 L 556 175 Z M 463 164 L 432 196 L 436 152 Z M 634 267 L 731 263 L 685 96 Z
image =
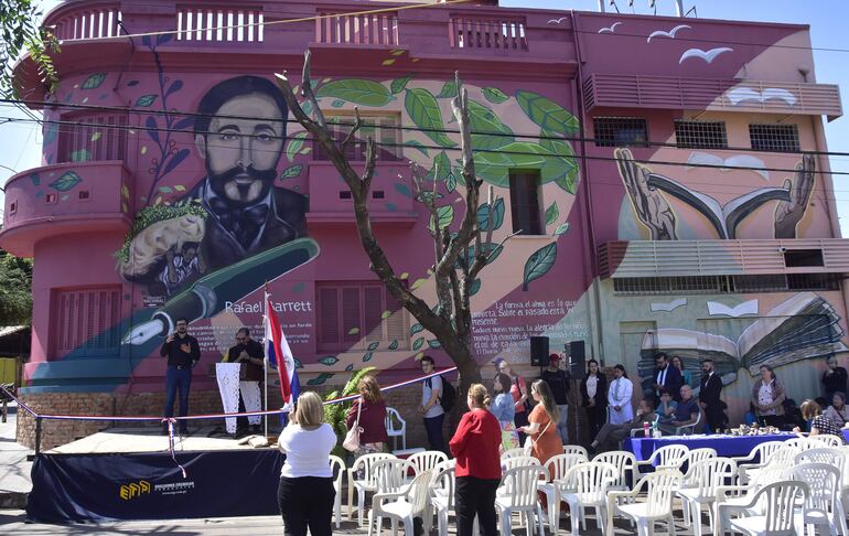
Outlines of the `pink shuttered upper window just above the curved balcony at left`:
M 63 117 L 56 162 L 123 160 L 127 114 L 86 114 Z

